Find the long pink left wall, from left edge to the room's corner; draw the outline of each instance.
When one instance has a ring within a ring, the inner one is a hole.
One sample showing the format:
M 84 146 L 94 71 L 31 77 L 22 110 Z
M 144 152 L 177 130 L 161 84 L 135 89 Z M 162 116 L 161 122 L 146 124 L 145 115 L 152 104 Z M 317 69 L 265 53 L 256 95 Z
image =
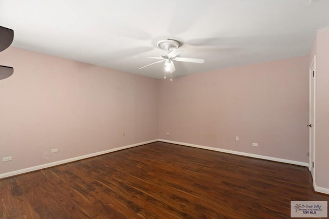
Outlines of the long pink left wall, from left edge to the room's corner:
M 14 67 L 0 81 L 0 174 L 158 138 L 157 79 L 13 47 L 0 60 Z

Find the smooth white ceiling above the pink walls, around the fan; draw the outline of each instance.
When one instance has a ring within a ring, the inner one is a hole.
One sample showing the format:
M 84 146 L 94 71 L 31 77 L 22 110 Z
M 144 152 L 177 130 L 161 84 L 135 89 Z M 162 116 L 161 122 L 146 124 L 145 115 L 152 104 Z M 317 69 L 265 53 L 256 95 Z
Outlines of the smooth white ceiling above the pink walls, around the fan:
M 174 75 L 307 55 L 316 30 L 329 27 L 328 0 L 0 0 L 0 26 L 12 46 L 149 77 L 172 38 L 180 57 Z

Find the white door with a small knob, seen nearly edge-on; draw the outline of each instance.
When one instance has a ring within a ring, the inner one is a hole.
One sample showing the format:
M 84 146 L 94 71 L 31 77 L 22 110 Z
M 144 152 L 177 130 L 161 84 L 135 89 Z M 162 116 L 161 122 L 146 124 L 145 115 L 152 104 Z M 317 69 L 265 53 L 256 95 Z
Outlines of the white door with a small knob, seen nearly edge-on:
M 315 86 L 316 86 L 316 56 L 309 67 L 309 165 L 308 169 L 315 177 Z

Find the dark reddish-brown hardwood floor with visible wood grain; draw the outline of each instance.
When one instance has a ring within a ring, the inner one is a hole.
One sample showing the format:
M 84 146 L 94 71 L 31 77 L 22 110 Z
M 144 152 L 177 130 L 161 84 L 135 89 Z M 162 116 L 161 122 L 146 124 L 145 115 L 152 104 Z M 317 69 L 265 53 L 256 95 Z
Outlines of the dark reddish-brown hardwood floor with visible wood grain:
M 156 142 L 0 180 L 0 218 L 290 218 L 306 167 Z

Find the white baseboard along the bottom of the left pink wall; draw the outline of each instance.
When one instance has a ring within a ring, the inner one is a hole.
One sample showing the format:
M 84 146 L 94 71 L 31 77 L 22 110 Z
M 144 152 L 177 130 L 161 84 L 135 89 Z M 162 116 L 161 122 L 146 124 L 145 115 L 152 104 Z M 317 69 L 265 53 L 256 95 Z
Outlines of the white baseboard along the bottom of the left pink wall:
M 56 161 L 56 162 L 43 164 L 43 165 L 39 165 L 39 166 L 34 166 L 34 167 L 29 167 L 29 168 L 25 168 L 25 169 L 21 169 L 21 170 L 15 170 L 15 171 L 8 172 L 8 173 L 2 173 L 2 174 L 0 174 L 0 178 L 6 178 L 6 177 L 14 176 L 14 175 L 27 173 L 27 172 L 41 170 L 41 169 L 45 169 L 45 168 L 48 168 L 48 167 L 53 167 L 53 166 L 57 166 L 57 165 L 61 165 L 61 164 L 70 163 L 70 162 L 73 162 L 73 161 L 83 160 L 85 158 L 89 158 L 89 157 L 93 157 L 93 156 L 99 156 L 99 155 L 106 154 L 106 153 L 111 153 L 111 152 L 114 152 L 114 151 L 119 151 L 119 150 L 123 150 L 123 149 L 127 149 L 127 148 L 133 148 L 133 147 L 140 146 L 140 145 L 150 144 L 150 143 L 157 142 L 157 141 L 158 140 L 156 139 L 156 140 L 141 142 L 141 143 L 137 143 L 137 144 L 133 144 L 133 145 L 126 145 L 126 146 L 122 146 L 122 147 L 119 147 L 119 148 L 113 148 L 113 149 L 100 151 L 100 152 L 96 152 L 96 153 L 91 153 L 91 154 L 86 154 L 86 155 L 82 155 L 82 156 L 72 157 L 72 158 L 68 158 L 66 160 L 62 160 L 62 161 Z

